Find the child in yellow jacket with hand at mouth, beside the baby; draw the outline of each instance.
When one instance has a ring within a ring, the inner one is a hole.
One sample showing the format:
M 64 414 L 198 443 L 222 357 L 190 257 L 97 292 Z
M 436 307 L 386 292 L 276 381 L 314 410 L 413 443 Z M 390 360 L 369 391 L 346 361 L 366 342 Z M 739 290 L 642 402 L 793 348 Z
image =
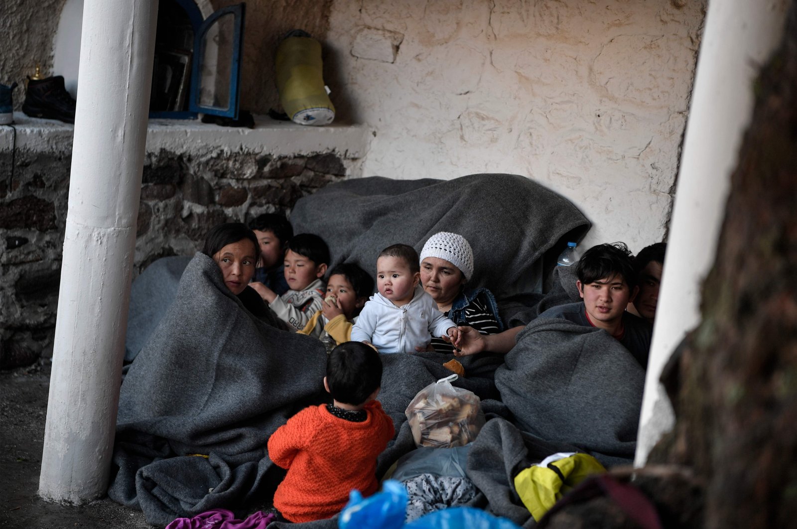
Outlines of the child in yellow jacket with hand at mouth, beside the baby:
M 374 280 L 368 272 L 354 263 L 338 264 L 329 272 L 324 305 L 298 332 L 322 341 L 330 337 L 336 345 L 350 341 L 352 324 L 371 292 Z

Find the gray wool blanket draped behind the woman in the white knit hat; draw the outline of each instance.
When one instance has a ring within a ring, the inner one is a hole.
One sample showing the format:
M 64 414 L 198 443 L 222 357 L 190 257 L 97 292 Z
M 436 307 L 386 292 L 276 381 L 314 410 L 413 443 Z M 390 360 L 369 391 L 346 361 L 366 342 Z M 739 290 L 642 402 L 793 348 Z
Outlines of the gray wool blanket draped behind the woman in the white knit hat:
M 561 249 L 557 242 L 578 241 L 590 227 L 566 198 L 516 174 L 345 180 L 300 198 L 291 223 L 294 233 L 324 238 L 331 265 L 355 262 L 367 271 L 389 245 L 420 252 L 434 233 L 459 233 L 473 248 L 469 287 L 498 297 L 540 292 L 544 266 Z

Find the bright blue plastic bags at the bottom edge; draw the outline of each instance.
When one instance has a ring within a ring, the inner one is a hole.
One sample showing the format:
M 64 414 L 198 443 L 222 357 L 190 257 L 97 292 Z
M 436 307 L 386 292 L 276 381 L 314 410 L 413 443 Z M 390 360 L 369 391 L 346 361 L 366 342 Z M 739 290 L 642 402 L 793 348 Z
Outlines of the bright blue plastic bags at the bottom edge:
M 498 518 L 473 507 L 453 507 L 430 512 L 411 523 L 404 523 L 409 500 L 404 485 L 386 480 L 382 492 L 363 499 L 351 491 L 349 501 L 340 512 L 339 529 L 520 529 L 505 518 Z

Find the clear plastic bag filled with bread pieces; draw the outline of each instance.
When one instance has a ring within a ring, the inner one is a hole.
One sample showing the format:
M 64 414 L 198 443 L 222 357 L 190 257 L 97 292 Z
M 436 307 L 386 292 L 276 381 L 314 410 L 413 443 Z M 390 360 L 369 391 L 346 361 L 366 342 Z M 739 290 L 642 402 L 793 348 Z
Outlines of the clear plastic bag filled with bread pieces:
M 451 385 L 457 375 L 441 378 L 418 391 L 404 414 L 416 446 L 465 446 L 485 425 L 481 400 L 472 391 Z

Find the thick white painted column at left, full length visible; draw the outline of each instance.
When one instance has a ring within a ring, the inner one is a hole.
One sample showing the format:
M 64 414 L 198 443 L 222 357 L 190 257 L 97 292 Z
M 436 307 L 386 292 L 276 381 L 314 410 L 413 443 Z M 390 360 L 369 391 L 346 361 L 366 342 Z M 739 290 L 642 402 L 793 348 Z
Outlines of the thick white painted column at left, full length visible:
M 119 405 L 157 0 L 86 0 L 39 494 L 104 496 Z

